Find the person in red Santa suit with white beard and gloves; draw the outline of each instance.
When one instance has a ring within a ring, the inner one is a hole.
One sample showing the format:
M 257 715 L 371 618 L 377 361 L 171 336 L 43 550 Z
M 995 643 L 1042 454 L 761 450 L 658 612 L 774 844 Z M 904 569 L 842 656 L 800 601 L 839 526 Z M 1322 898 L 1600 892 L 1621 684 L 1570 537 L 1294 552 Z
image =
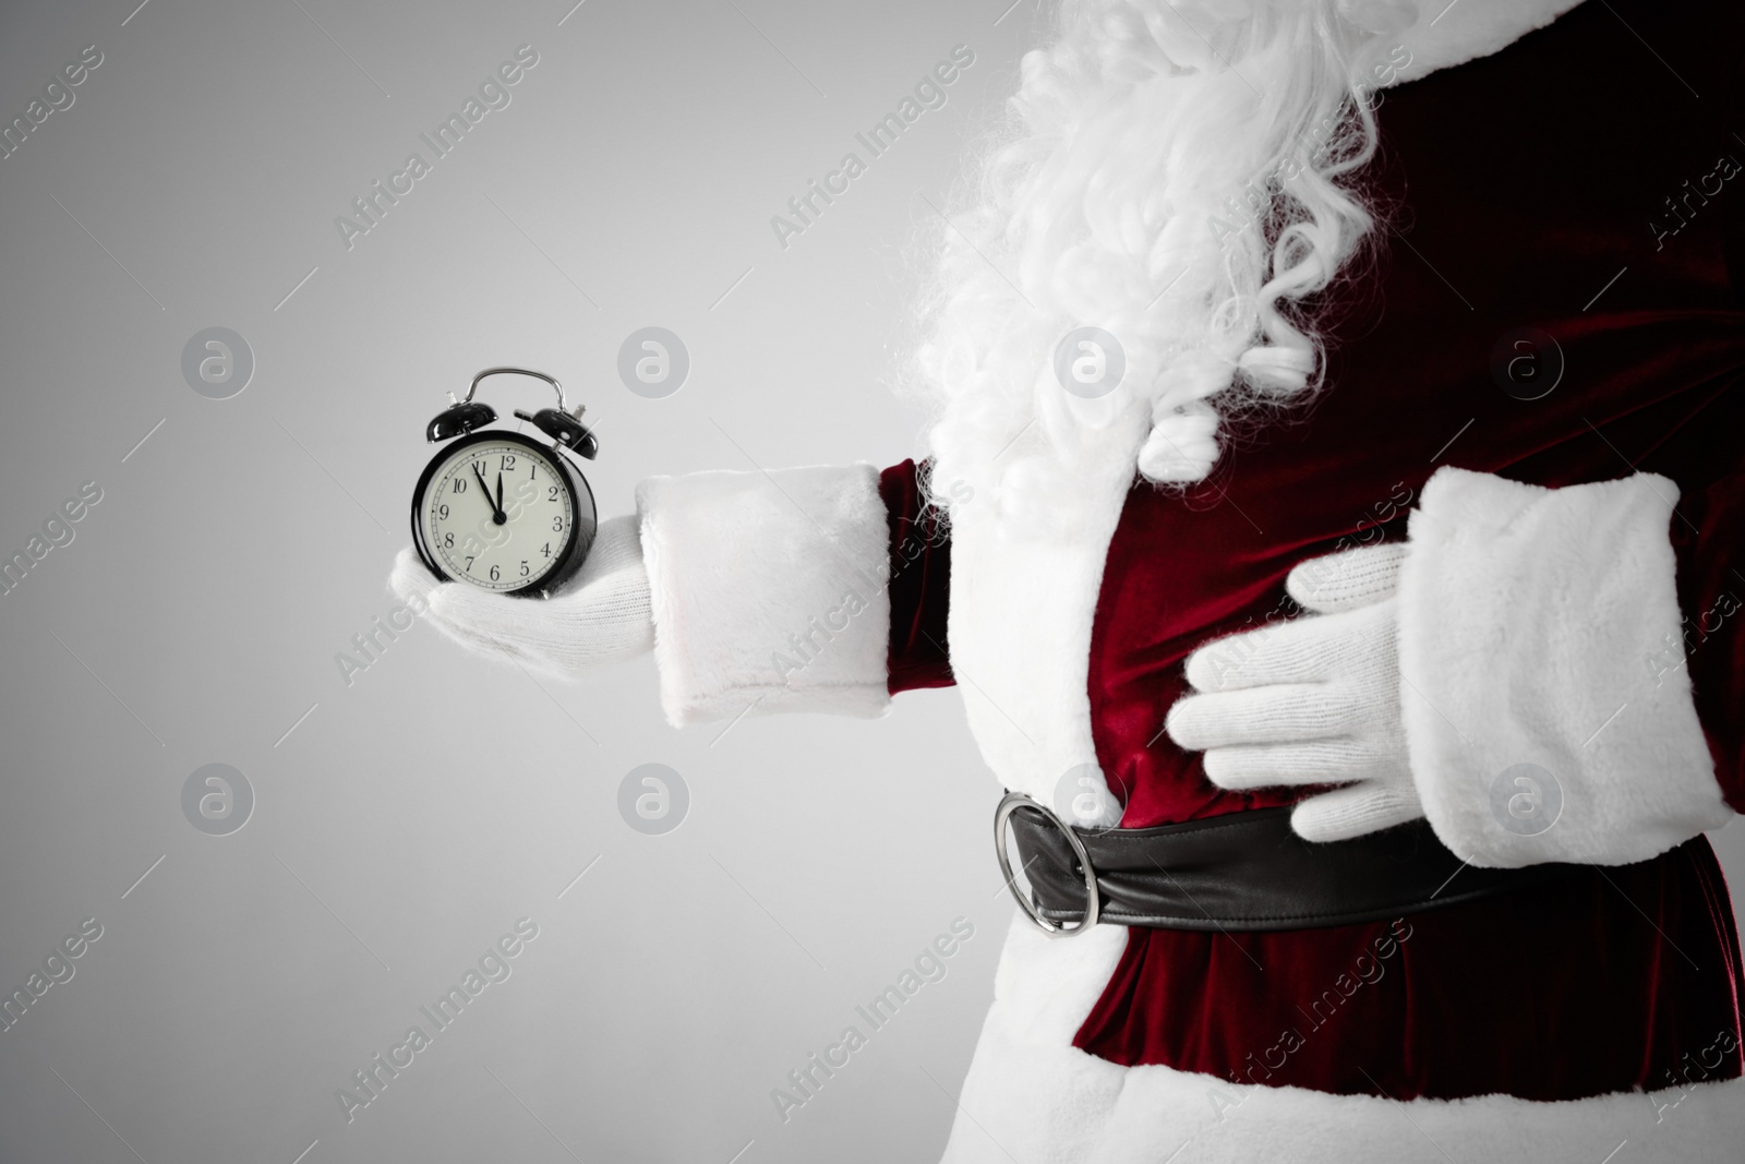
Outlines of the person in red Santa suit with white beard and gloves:
M 1068 3 L 937 239 L 920 464 L 394 586 L 653 649 L 674 724 L 958 686 L 1023 911 L 946 1161 L 1738 1161 L 1742 44 Z

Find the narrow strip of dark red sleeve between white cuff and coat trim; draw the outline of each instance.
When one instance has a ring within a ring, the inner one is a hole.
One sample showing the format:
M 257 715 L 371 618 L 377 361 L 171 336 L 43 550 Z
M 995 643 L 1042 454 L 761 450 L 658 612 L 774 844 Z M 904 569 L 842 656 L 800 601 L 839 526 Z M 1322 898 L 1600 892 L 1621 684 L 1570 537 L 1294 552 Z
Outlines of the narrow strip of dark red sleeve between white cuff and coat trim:
M 890 520 L 890 693 L 949 688 L 951 534 L 925 504 L 914 461 L 879 473 L 878 492 Z

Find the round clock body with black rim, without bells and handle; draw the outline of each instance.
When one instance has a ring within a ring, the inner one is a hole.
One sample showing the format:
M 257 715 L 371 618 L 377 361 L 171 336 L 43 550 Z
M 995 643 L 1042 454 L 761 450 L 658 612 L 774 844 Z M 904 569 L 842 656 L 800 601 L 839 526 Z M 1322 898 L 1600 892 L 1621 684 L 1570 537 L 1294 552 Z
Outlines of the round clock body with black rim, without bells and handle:
M 562 579 L 593 541 L 586 482 L 511 433 L 475 433 L 438 455 L 414 504 L 426 565 L 499 593 Z

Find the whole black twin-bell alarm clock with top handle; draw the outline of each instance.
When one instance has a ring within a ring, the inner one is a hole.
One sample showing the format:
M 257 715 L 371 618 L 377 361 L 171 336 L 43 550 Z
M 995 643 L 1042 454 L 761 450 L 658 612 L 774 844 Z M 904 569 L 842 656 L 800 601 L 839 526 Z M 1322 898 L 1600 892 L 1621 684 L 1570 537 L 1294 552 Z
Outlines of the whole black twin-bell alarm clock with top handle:
M 487 375 L 513 372 L 557 389 L 557 408 L 515 415 L 536 435 L 490 429 L 497 414 L 475 401 Z M 564 405 L 564 386 L 530 368 L 485 368 L 466 400 L 448 393 L 448 407 L 424 429 L 445 443 L 412 490 L 412 544 L 436 578 L 471 583 L 506 595 L 550 595 L 576 572 L 593 544 L 593 490 L 571 454 L 593 459 L 600 443 L 581 422 L 585 407 Z

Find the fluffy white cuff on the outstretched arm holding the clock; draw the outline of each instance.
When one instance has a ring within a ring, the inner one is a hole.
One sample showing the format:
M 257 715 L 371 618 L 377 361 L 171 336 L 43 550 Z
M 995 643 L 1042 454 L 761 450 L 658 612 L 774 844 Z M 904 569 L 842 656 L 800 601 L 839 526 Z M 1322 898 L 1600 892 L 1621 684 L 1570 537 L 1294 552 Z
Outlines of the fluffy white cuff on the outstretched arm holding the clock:
M 637 487 L 661 707 L 674 726 L 890 705 L 890 527 L 871 464 Z

